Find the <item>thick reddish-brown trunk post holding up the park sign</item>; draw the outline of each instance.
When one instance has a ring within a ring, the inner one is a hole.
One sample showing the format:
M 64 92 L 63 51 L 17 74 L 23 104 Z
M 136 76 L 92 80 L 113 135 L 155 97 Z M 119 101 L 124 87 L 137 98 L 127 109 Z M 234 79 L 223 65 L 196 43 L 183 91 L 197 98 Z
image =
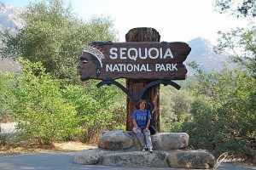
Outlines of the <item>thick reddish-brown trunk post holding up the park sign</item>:
M 160 42 L 160 34 L 154 28 L 133 28 L 125 35 L 126 42 Z M 152 80 L 153 81 L 153 80 Z M 126 79 L 126 88 L 137 96 L 139 91 L 152 81 L 139 81 L 133 79 Z M 153 124 L 157 132 L 160 132 L 160 86 L 154 86 L 150 88 L 145 94 L 143 99 L 149 99 L 153 103 L 152 118 Z M 133 105 L 131 99 L 126 98 L 126 130 L 132 130 L 132 113 L 135 111 L 136 105 Z

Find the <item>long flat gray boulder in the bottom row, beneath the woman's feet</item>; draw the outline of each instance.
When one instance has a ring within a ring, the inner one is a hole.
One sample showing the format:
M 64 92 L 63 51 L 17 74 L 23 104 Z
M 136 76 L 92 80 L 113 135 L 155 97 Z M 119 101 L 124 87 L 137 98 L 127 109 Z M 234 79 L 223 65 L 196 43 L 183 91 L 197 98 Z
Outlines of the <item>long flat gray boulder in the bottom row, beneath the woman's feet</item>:
M 115 152 L 103 156 L 102 165 L 115 167 L 168 167 L 166 151 Z

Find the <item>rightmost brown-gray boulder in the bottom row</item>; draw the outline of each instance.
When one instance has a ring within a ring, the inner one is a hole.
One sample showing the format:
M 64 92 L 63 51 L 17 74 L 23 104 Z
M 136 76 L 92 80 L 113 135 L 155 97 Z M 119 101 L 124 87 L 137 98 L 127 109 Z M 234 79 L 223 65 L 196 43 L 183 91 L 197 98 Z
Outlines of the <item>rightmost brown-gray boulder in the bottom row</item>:
M 214 156 L 206 150 L 176 150 L 168 152 L 169 167 L 209 169 L 216 167 Z

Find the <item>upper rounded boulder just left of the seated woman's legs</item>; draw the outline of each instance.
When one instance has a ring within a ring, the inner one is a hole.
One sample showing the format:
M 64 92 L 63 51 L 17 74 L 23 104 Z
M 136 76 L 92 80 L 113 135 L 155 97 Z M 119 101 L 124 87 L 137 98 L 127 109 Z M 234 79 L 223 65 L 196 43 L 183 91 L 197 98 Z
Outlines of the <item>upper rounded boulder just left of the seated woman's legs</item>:
M 104 132 L 98 140 L 98 147 L 107 150 L 126 150 L 134 145 L 134 135 L 122 130 Z

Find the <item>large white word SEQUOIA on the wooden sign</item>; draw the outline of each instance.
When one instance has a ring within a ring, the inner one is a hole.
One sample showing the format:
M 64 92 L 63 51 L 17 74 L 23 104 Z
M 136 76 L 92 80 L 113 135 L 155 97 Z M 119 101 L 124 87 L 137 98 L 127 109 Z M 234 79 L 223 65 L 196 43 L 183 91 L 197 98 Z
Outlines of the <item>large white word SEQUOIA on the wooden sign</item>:
M 172 51 L 170 48 L 166 48 L 166 51 L 163 51 L 163 48 L 110 48 L 109 54 L 110 59 L 117 59 L 119 56 L 120 59 L 127 59 L 128 57 L 129 59 L 135 61 L 137 58 L 166 59 L 169 57 L 173 59 Z

